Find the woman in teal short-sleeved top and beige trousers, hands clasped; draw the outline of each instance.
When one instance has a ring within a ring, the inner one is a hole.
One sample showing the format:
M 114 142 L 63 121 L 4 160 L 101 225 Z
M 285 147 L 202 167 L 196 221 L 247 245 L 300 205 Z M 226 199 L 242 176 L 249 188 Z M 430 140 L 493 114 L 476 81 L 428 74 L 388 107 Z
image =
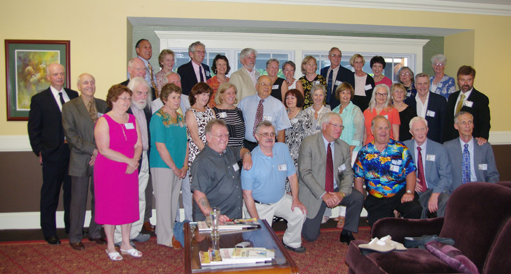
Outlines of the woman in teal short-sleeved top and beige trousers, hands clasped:
M 174 220 L 179 207 L 181 180 L 188 169 L 188 138 L 184 117 L 176 110 L 181 102 L 181 88 L 165 84 L 160 99 L 164 102 L 149 123 L 151 151 L 149 167 L 156 198 L 156 243 L 172 246 Z

